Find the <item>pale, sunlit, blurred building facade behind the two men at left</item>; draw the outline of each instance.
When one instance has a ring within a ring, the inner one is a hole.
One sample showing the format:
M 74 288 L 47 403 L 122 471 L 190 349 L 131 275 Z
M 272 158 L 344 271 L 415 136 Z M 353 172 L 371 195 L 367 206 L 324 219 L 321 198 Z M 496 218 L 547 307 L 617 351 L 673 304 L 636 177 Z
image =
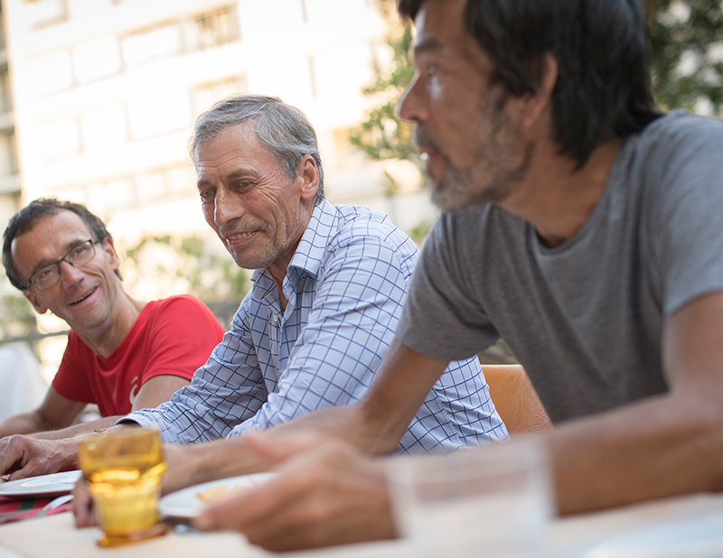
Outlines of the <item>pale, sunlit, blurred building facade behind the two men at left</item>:
M 86 203 L 122 243 L 206 235 L 186 154 L 192 123 L 220 98 L 259 93 L 314 123 L 330 200 L 393 213 L 402 228 L 432 215 L 424 194 L 385 199 L 380 169 L 347 141 L 386 56 L 375 0 L 3 4 L 5 213 L 53 195 Z

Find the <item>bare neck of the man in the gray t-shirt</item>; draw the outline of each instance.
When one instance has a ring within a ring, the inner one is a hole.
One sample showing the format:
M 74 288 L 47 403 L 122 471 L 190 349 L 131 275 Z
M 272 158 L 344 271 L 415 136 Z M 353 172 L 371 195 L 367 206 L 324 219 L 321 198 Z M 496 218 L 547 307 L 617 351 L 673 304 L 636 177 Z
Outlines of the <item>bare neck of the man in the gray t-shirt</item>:
M 559 246 L 573 237 L 595 209 L 615 163 L 619 140 L 599 145 L 581 169 L 556 153 L 533 154 L 527 180 L 500 205 L 537 231 L 545 246 Z

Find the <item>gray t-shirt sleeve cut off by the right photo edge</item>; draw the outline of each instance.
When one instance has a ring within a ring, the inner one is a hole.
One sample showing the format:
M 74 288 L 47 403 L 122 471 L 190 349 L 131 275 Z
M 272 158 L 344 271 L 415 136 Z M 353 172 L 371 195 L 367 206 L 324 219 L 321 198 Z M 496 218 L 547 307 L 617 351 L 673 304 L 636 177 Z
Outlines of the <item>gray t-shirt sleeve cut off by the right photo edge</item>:
M 674 130 L 673 138 L 661 142 L 661 151 L 651 157 L 659 172 L 653 173 L 648 235 L 665 316 L 703 294 L 723 290 L 723 126 L 696 120 L 698 126 Z

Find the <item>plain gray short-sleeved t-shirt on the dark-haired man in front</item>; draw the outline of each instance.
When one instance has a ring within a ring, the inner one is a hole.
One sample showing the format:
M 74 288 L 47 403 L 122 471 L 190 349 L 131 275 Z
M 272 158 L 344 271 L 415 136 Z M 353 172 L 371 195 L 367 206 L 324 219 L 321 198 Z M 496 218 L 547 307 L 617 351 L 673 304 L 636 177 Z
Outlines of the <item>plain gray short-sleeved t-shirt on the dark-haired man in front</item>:
M 560 246 L 496 205 L 443 214 L 397 335 L 444 360 L 502 337 L 555 422 L 662 393 L 663 321 L 723 290 L 722 218 L 723 123 L 676 111 L 624 140 Z

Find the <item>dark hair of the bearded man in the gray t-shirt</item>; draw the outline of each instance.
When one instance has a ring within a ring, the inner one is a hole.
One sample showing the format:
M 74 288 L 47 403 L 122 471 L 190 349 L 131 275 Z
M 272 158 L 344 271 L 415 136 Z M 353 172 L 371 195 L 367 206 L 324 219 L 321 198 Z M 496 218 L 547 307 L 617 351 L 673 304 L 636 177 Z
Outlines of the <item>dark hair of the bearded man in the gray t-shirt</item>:
M 414 19 L 426 1 L 398 0 L 399 14 Z M 512 96 L 535 93 L 543 57 L 557 60 L 555 140 L 578 168 L 597 145 L 662 116 L 639 0 L 467 0 L 465 26 Z

